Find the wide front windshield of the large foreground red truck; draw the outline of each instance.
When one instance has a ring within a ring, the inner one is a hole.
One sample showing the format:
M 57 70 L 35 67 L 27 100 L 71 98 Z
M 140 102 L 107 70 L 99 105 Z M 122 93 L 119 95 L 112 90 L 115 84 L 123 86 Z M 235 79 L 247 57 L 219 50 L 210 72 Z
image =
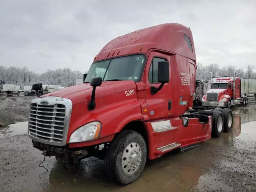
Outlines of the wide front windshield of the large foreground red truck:
M 132 55 L 92 63 L 84 82 L 90 82 L 94 77 L 102 81 L 110 80 L 140 80 L 144 55 Z

